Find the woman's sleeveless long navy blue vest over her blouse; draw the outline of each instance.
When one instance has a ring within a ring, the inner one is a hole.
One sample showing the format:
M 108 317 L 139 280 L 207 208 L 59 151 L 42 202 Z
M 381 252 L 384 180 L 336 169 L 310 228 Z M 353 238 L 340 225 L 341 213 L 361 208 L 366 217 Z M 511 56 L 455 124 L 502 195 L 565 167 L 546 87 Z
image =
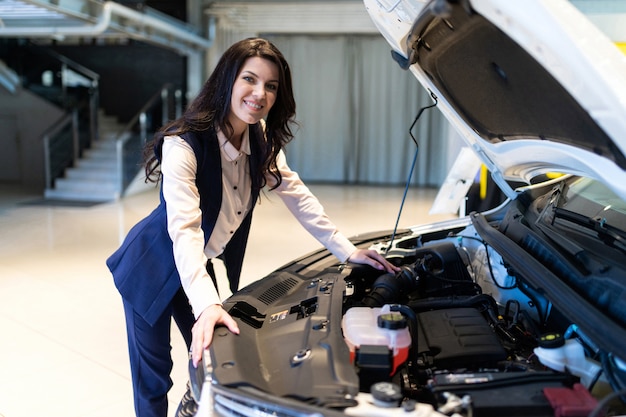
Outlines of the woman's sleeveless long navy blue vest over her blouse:
M 202 230 L 208 242 L 222 204 L 222 163 L 219 143 L 213 130 L 181 135 L 192 147 L 198 164 L 196 185 L 200 193 Z M 257 123 L 250 126 L 250 172 L 258 172 L 264 157 L 263 132 Z M 258 178 L 252 178 L 252 208 L 259 195 Z M 234 233 L 220 256 L 225 264 L 231 291 L 239 287 L 243 257 L 250 232 L 252 211 Z M 106 261 L 122 297 L 144 320 L 154 324 L 180 289 L 180 276 L 174 262 L 173 244 L 167 232 L 163 190 L 160 204 L 128 232 L 120 248 Z

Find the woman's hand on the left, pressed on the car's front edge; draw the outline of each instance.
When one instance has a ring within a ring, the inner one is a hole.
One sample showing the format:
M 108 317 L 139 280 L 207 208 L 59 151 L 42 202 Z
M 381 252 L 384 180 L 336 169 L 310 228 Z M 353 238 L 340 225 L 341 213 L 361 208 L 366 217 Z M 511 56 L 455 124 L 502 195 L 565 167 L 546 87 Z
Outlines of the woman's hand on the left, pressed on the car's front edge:
M 204 309 L 191 329 L 190 353 L 194 368 L 198 367 L 204 350 L 211 346 L 213 330 L 217 325 L 224 325 L 234 334 L 239 334 L 237 322 L 220 304 L 213 304 Z

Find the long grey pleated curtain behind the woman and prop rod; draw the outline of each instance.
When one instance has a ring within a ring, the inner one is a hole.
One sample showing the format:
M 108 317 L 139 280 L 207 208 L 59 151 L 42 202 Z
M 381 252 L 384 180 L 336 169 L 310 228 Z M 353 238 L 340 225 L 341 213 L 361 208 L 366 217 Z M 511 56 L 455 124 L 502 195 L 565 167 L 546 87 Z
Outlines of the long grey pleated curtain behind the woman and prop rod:
M 405 184 L 416 146 L 409 127 L 432 103 L 380 36 L 272 36 L 292 69 L 300 124 L 287 146 L 308 182 Z M 439 186 L 447 173 L 447 122 L 437 109 L 413 129 L 419 144 L 411 184 Z

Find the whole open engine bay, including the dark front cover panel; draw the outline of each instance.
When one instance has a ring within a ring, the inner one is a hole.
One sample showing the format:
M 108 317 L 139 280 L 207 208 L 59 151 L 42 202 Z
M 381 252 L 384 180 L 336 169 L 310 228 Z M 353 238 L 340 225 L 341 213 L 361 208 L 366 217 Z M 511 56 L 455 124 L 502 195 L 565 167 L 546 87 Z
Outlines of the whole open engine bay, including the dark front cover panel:
M 388 259 L 401 272 L 296 263 L 233 295 L 213 380 L 355 416 L 587 416 L 611 391 L 593 341 L 473 225 Z

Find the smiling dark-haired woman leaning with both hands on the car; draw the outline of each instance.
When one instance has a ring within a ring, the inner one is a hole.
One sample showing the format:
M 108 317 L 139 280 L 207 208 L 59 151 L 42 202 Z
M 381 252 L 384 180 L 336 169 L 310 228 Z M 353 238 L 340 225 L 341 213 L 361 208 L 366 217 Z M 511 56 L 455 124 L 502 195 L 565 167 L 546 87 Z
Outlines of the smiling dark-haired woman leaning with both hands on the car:
M 108 260 L 126 314 L 137 416 L 166 416 L 174 318 L 197 366 L 213 329 L 237 323 L 222 308 L 211 259 L 238 289 L 252 211 L 266 185 L 337 258 L 397 268 L 357 249 L 287 166 L 295 102 L 289 66 L 270 42 L 250 38 L 221 57 L 198 97 L 147 147 L 146 176 L 159 206 Z

